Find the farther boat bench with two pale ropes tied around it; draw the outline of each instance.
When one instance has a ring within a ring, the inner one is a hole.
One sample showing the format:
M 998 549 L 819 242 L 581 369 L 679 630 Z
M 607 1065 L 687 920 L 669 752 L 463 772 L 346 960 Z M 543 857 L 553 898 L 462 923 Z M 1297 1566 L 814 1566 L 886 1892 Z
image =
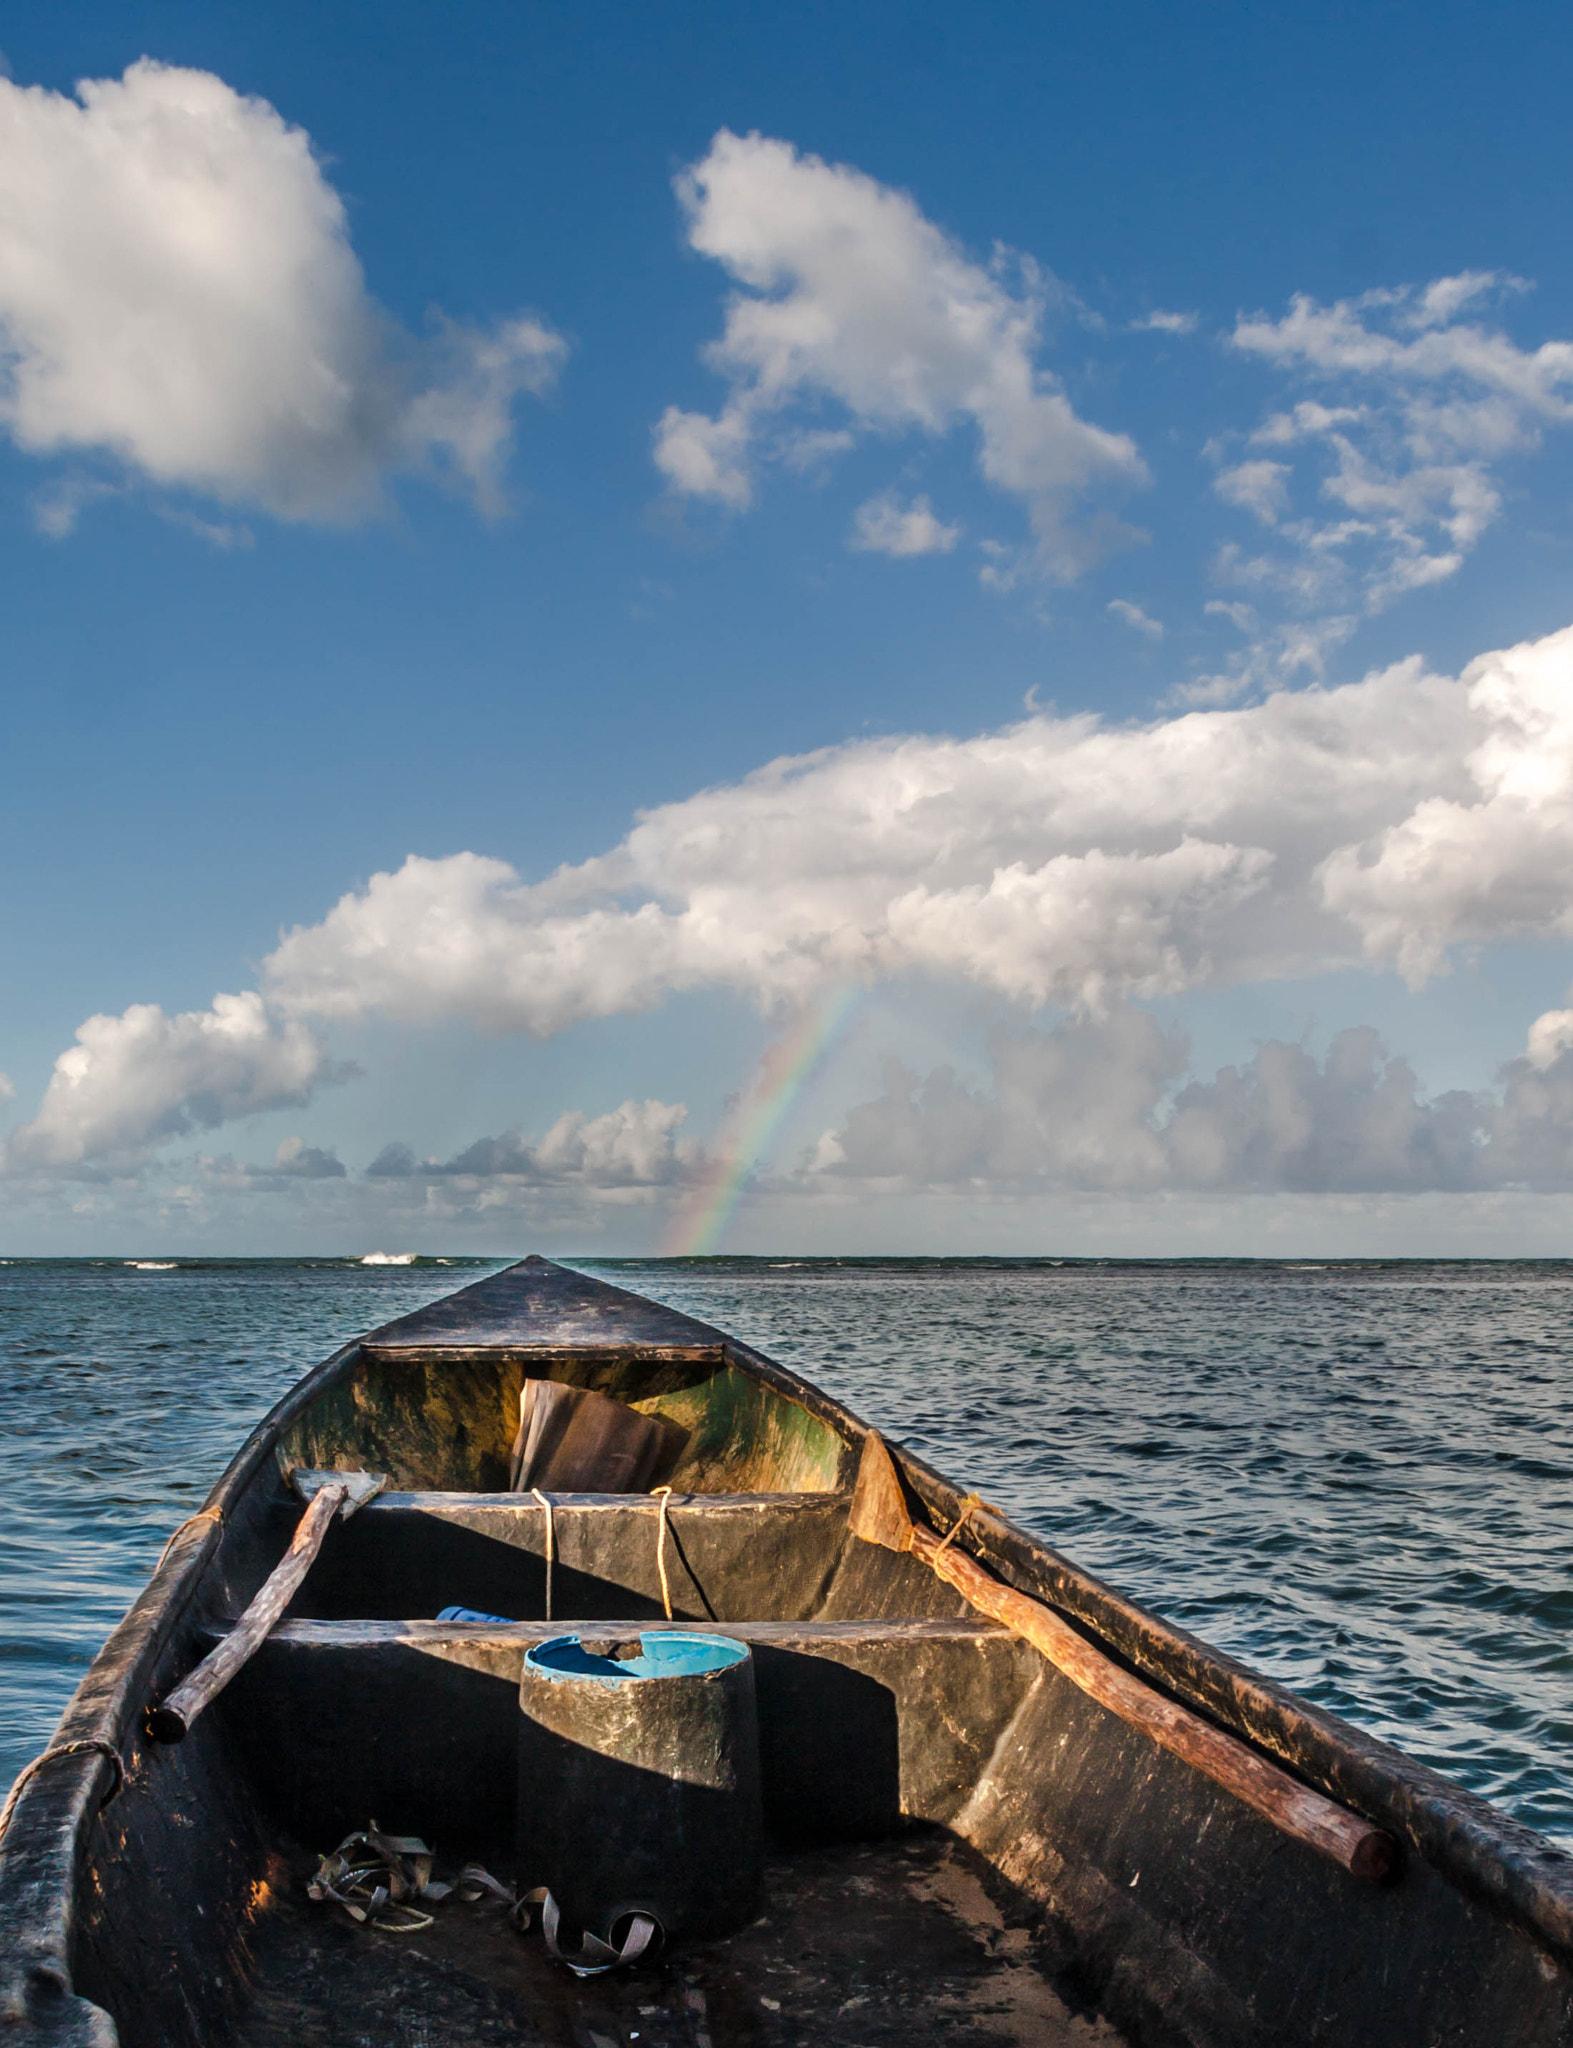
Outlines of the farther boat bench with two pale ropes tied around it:
M 942 1618 L 954 1587 L 909 1556 L 848 1536 L 846 1493 L 672 1493 L 666 1581 L 680 1620 Z M 281 1501 L 285 1516 L 297 1509 Z M 334 1528 L 289 1614 L 401 1620 L 473 1608 L 543 1616 L 547 1513 L 553 1612 L 664 1614 L 662 1499 L 649 1493 L 383 1493 Z

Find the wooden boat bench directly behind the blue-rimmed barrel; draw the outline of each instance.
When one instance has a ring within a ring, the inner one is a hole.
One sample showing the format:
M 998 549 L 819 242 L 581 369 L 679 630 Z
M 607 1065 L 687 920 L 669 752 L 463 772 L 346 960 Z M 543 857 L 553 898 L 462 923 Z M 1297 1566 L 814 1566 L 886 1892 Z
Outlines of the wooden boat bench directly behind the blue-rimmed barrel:
M 338 1841 L 369 1812 L 397 1812 L 444 1853 L 500 1853 L 524 1651 L 565 1632 L 627 1638 L 635 1624 L 287 1620 L 221 1708 L 299 1839 Z M 754 1651 L 766 1817 L 799 1837 L 952 1823 L 1045 1669 L 1020 1636 L 971 1616 L 690 1626 Z

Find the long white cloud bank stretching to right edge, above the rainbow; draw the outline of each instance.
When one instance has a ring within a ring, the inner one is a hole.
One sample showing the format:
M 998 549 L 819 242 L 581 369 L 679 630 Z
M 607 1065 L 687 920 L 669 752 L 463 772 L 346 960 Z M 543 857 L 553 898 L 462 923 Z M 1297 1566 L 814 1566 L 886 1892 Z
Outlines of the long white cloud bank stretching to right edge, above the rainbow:
M 725 987 L 965 979 L 1100 1008 L 1573 932 L 1573 629 L 1147 725 L 868 739 L 645 813 L 545 881 L 410 856 L 289 932 L 291 1016 L 549 1034 Z

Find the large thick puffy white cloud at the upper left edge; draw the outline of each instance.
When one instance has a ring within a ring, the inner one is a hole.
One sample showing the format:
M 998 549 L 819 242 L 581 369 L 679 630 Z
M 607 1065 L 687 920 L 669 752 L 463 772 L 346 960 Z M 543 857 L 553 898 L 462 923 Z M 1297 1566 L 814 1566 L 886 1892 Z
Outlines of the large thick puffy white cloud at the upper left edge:
M 352 518 L 428 467 L 500 498 L 543 322 L 416 340 L 369 297 L 309 137 L 209 72 L 143 59 L 76 98 L 0 80 L 0 424 L 281 518 Z M 47 496 L 70 526 L 92 483 Z

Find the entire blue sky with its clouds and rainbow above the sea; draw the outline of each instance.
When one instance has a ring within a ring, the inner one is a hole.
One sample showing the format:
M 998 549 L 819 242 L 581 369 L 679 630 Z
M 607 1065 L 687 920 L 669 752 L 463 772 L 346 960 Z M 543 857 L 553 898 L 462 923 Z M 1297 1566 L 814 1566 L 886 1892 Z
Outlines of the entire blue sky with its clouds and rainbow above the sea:
M 12 1251 L 1565 1249 L 1559 12 L 4 61 Z

